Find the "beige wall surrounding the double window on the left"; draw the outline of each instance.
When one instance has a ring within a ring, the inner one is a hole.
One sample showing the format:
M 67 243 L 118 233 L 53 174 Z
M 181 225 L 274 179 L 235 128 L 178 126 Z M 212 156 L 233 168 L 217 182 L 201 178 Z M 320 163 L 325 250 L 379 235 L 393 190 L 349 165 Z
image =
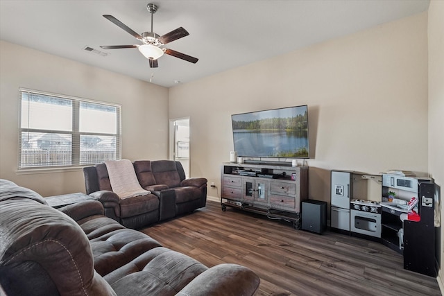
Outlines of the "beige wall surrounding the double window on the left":
M 167 158 L 167 88 L 8 42 L 0 42 L 0 78 L 1 178 L 44 196 L 85 191 L 81 170 L 16 174 L 19 87 L 121 104 L 122 158 Z

